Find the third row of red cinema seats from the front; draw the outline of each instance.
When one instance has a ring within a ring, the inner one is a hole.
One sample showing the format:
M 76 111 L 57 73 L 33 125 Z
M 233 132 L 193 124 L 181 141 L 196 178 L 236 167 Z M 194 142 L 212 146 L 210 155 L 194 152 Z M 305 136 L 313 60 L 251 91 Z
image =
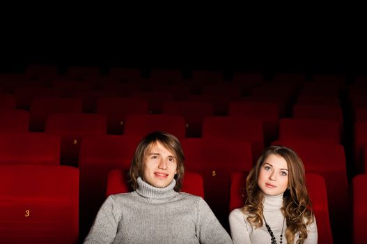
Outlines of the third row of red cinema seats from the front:
M 29 131 L 29 114 L 26 111 L 0 109 L 0 116 L 0 131 Z M 104 114 L 69 112 L 45 116 L 45 132 L 61 135 L 61 158 L 64 162 L 77 162 L 80 141 L 84 136 L 107 135 L 108 121 Z M 178 114 L 126 114 L 123 135 L 142 137 L 152 130 L 166 130 L 180 139 L 185 138 L 190 127 L 186 118 Z M 274 139 L 297 138 L 341 143 L 343 136 L 338 122 L 323 119 L 283 118 L 265 121 L 244 115 L 202 116 L 197 128 L 200 128 L 202 138 L 223 137 L 251 142 L 255 158 L 263 146 Z

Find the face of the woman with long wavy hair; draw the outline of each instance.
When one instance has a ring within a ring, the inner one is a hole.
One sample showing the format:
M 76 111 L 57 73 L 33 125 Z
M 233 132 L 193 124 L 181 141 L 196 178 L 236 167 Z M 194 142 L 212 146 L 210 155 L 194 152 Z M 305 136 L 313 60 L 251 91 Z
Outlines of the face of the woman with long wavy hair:
M 265 158 L 258 174 L 258 186 L 265 195 L 281 195 L 288 188 L 287 161 L 281 155 Z

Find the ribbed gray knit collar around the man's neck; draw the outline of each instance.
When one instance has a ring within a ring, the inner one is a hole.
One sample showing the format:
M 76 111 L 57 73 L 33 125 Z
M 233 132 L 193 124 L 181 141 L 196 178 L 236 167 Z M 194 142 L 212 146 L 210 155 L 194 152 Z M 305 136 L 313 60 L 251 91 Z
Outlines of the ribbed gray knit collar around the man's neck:
M 165 188 L 156 188 L 143 181 L 141 177 L 138 178 L 137 182 L 139 187 L 135 190 L 136 193 L 148 199 L 168 199 L 178 194 L 178 192 L 173 190 L 176 184 L 175 179 L 173 179 L 173 181 Z

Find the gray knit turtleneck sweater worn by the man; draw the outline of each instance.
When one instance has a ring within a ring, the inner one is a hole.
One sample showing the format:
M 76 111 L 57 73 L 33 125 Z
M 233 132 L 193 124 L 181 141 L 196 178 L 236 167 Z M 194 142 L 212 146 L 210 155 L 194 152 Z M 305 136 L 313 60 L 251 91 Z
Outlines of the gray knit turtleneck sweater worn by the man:
M 232 243 L 201 197 L 155 188 L 138 178 L 134 192 L 109 196 L 84 243 Z

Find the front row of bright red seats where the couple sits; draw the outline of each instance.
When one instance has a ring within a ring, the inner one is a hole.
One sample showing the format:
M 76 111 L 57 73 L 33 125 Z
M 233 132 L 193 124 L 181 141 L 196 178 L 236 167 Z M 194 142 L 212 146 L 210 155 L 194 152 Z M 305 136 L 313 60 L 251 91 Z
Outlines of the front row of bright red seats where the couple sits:
M 104 197 L 130 191 L 125 172 L 109 171 Z M 246 173 L 231 174 L 228 211 L 243 206 Z M 201 197 L 205 180 L 187 172 L 182 190 Z M 313 211 L 318 220 L 319 243 L 333 243 L 329 224 L 327 188 L 319 174 L 306 174 Z M 26 187 L 24 187 L 26 185 Z M 79 169 L 61 165 L 0 165 L 0 243 L 78 243 Z M 367 176 L 353 178 L 353 243 L 364 243 Z

